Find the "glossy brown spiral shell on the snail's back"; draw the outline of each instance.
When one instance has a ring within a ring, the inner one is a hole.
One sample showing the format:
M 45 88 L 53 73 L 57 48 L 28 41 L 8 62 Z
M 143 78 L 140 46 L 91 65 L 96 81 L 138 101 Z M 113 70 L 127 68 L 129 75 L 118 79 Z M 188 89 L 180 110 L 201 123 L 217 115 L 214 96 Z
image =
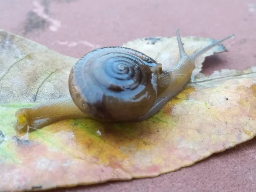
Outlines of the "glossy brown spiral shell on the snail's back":
M 92 118 L 124 122 L 145 114 L 157 99 L 156 62 L 125 47 L 94 49 L 70 72 L 70 95 Z

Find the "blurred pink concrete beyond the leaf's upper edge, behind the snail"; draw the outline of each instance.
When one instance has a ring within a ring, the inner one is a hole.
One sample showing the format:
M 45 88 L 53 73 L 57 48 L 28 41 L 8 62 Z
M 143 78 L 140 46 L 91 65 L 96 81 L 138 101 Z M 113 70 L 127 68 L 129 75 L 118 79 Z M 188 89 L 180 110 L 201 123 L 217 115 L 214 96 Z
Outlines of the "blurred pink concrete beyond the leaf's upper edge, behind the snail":
M 225 42 L 230 53 L 213 56 L 206 74 L 256 63 L 255 0 L 0 0 L 0 12 L 0 28 L 73 57 L 180 28 L 182 36 L 235 34 Z

